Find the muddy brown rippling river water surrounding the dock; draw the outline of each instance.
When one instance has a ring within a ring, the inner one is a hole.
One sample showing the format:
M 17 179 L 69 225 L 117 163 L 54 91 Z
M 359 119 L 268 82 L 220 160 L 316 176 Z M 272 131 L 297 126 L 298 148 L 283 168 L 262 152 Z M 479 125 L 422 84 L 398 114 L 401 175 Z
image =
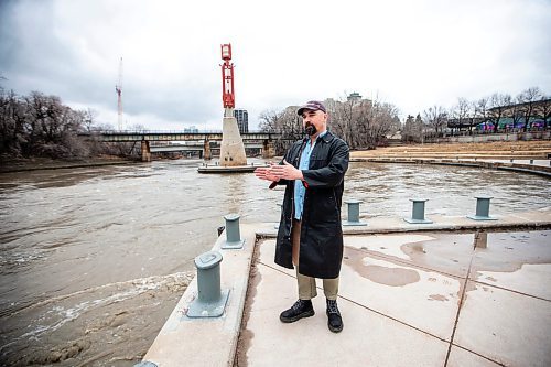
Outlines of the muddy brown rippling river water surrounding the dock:
M 249 160 L 249 162 L 255 160 Z M 260 161 L 255 161 L 260 162 Z M 0 175 L 0 365 L 132 366 L 210 249 L 223 216 L 276 222 L 283 191 L 253 174 L 158 161 Z M 475 168 L 352 163 L 344 198 L 360 218 L 490 214 L 550 205 L 550 181 Z M 346 216 L 346 207 L 343 208 Z

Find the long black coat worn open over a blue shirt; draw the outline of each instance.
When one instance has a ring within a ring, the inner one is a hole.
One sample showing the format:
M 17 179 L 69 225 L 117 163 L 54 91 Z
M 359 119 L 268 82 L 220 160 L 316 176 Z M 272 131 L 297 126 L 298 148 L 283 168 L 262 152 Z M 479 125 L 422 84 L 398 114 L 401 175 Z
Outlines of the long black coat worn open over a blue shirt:
M 284 160 L 295 168 L 307 139 L 293 143 Z M 331 132 L 317 138 L 309 170 L 302 171 L 306 187 L 301 222 L 299 271 L 301 274 L 333 279 L 341 272 L 343 229 L 341 205 L 344 175 L 348 169 L 348 145 Z M 276 263 L 293 269 L 291 226 L 294 217 L 294 180 L 280 180 L 285 196 L 276 245 Z

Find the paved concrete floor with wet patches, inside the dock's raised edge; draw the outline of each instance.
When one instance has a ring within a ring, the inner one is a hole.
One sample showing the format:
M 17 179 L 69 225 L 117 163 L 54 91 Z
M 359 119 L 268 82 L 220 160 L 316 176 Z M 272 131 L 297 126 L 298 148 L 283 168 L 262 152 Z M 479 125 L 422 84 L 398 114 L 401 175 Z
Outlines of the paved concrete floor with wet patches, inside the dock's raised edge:
M 345 236 L 344 331 L 316 314 L 293 324 L 293 270 L 257 247 L 237 366 L 551 366 L 551 231 Z M 318 287 L 321 281 L 318 281 Z

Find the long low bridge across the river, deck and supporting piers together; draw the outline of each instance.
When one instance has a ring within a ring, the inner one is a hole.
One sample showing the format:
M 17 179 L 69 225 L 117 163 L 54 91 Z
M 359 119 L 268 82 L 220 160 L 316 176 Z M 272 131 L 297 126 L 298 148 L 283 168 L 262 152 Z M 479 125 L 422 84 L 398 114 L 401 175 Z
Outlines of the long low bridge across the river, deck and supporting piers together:
M 205 159 L 212 159 L 210 153 L 210 142 L 222 141 L 222 131 L 202 131 L 202 132 L 188 132 L 188 131 L 152 131 L 152 130 L 141 130 L 141 131 L 119 131 L 119 130 L 106 130 L 106 131 L 91 131 L 91 132 L 80 132 L 79 137 L 88 139 L 98 139 L 105 142 L 137 142 L 141 143 L 141 158 L 142 161 L 151 161 L 152 152 L 161 151 L 199 151 L 199 155 Z M 278 132 L 261 132 L 251 131 L 241 133 L 241 139 L 247 148 L 260 148 L 263 158 L 272 158 L 274 155 L 273 140 L 281 138 L 281 133 Z M 161 141 L 184 141 L 187 144 L 180 145 L 158 145 L 152 147 L 150 142 L 161 142 Z M 201 148 L 202 145 L 202 148 Z

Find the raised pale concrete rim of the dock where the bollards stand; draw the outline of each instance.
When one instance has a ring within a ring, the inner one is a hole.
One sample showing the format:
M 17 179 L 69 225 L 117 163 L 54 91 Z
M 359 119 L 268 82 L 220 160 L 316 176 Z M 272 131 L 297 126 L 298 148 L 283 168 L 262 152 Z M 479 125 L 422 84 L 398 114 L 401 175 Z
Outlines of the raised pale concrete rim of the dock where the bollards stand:
M 466 216 L 432 216 L 432 224 L 410 225 L 402 218 L 372 218 L 368 227 L 343 227 L 344 235 L 397 234 L 408 231 L 522 231 L 551 229 L 551 207 L 498 215 L 495 222 L 475 222 Z M 276 238 L 273 223 L 241 224 L 246 245 L 240 250 L 224 250 L 218 237 L 213 250 L 223 255 L 222 290 L 229 290 L 226 311 L 220 317 L 192 320 L 185 312 L 197 294 L 194 279 L 160 331 L 143 361 L 168 366 L 234 366 L 241 328 L 249 272 L 257 244 Z

